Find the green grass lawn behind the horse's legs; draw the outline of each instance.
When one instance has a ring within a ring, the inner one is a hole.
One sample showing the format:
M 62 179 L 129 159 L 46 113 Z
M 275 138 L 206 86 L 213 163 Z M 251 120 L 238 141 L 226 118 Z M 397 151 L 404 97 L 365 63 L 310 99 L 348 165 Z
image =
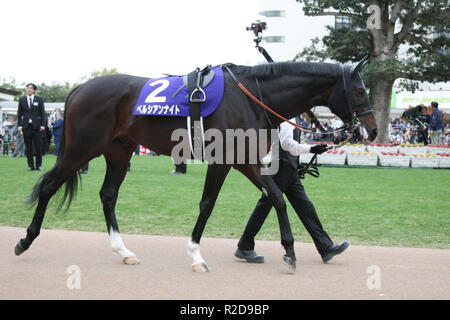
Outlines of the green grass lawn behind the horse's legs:
M 43 168 L 55 157 L 44 157 Z M 133 157 L 122 184 L 117 219 L 123 233 L 188 237 L 198 216 L 206 165 L 188 166 L 188 174 L 172 176 L 168 157 Z M 24 203 L 41 174 L 28 172 L 26 159 L 0 156 L 0 225 L 27 227 L 32 210 Z M 93 160 L 82 189 L 66 213 L 47 210 L 44 228 L 106 232 L 99 190 L 105 174 L 103 158 Z M 354 244 L 449 248 L 450 170 L 320 169 L 320 179 L 304 185 L 325 230 L 334 241 Z M 239 238 L 260 192 L 232 169 L 222 188 L 204 236 Z M 296 241 L 311 242 L 292 207 L 288 214 Z M 272 210 L 259 239 L 279 240 Z

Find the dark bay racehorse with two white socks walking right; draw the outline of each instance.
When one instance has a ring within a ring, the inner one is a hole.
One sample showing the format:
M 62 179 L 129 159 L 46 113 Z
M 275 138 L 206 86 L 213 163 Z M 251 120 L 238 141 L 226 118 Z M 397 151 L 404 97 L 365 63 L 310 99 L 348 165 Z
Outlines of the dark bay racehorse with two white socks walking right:
M 366 90 L 358 72 L 362 65 L 360 62 L 356 66 L 346 67 L 326 63 L 227 66 L 256 96 L 259 91 L 255 84 L 257 78 L 265 104 L 284 117 L 291 119 L 314 106 L 329 106 L 345 123 L 358 118 L 372 141 L 377 135 L 377 126 L 373 113 L 369 110 Z M 182 117 L 133 115 L 139 93 L 147 80 L 148 78 L 130 75 L 104 76 L 87 81 L 69 94 L 65 104 L 60 153 L 54 167 L 38 180 L 30 194 L 29 202 L 37 206 L 26 237 L 16 244 L 16 255 L 27 250 L 39 235 L 47 204 L 58 189 L 65 184 L 60 207 L 66 201 L 69 207 L 77 190 L 78 170 L 91 159 L 103 155 L 107 170 L 100 198 L 111 247 L 120 254 L 124 263 L 139 262 L 136 255 L 125 247 L 115 215 L 118 192 L 127 172 L 127 164 L 138 145 L 163 155 L 171 155 L 172 148 L 178 143 L 171 141 L 172 132 L 186 128 L 186 119 Z M 267 117 L 263 109 L 236 85 L 227 70 L 224 71 L 224 81 L 223 99 L 218 109 L 204 119 L 205 130 L 216 128 L 225 135 L 229 128 L 276 129 L 282 122 L 272 114 Z M 269 147 L 270 144 L 266 152 Z M 209 163 L 200 201 L 200 214 L 188 242 L 193 270 L 208 270 L 200 255 L 200 238 L 231 167 L 240 171 L 271 197 L 279 218 L 281 243 L 286 256 L 295 259 L 294 239 L 287 219 L 285 201 L 272 178 L 261 174 L 261 162 Z

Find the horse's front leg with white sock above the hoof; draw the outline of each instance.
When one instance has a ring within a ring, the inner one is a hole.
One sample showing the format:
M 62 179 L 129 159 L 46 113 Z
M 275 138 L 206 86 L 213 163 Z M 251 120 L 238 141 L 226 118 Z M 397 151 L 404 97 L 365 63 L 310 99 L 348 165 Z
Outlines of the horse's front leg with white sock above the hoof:
M 217 196 L 222 188 L 231 166 L 210 164 L 206 172 L 202 200 L 200 201 L 200 214 L 197 218 L 191 239 L 188 242 L 188 254 L 192 257 L 192 270 L 195 272 L 209 271 L 205 260 L 200 254 L 200 238 L 205 230 L 206 222 L 214 208 Z

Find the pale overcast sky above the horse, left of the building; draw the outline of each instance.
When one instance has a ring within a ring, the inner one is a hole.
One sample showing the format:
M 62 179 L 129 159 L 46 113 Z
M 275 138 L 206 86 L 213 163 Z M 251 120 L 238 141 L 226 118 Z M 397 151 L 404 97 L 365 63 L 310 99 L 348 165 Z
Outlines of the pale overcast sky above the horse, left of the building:
M 93 70 L 158 76 L 254 64 L 257 0 L 0 1 L 0 78 L 75 82 Z

